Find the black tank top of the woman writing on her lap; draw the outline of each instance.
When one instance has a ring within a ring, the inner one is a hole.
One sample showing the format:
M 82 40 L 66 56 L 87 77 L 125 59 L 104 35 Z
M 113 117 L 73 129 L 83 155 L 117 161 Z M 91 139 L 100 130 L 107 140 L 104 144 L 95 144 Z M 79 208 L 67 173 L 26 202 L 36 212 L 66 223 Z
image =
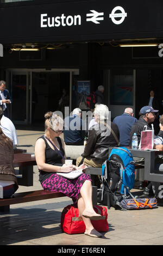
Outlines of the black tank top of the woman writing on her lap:
M 41 136 L 40 138 L 42 138 L 45 141 L 45 144 L 46 144 L 45 162 L 48 163 L 48 164 L 53 164 L 55 166 L 62 166 L 62 157 L 58 153 L 58 151 L 52 149 L 43 136 Z M 59 137 L 57 137 L 57 140 L 58 140 L 59 147 L 60 147 L 59 151 L 64 156 L 65 152 L 64 152 L 64 149 L 62 148 L 61 139 Z M 51 176 L 54 172 L 45 172 L 43 170 L 39 170 L 39 173 L 40 173 L 39 174 L 39 181 L 42 183 L 44 180 L 48 179 L 49 176 Z

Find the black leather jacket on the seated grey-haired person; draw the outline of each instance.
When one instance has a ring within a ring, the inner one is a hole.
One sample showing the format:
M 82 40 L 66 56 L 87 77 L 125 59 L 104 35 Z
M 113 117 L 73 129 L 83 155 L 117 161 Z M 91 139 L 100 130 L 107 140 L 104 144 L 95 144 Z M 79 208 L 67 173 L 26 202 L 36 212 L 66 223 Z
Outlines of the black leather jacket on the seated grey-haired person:
M 83 157 L 91 157 L 97 163 L 103 163 L 109 157 L 109 147 L 117 147 L 117 142 L 110 133 L 110 130 L 102 123 L 93 125 L 89 130 L 89 137 L 85 145 Z M 117 139 L 120 139 L 118 126 L 111 122 L 111 129 L 115 132 Z

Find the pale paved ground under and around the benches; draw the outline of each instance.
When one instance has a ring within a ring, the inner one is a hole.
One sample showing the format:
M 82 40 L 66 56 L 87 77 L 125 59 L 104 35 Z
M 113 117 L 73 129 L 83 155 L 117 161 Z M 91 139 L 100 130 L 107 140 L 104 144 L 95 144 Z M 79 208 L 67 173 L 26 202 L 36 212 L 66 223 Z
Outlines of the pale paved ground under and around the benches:
M 34 153 L 38 130 L 17 130 L 18 148 Z M 17 171 L 17 170 L 16 170 Z M 40 190 L 39 172 L 34 166 L 34 185 L 19 186 L 17 192 Z M 133 190 L 139 193 L 139 190 Z M 109 245 L 163 245 L 163 207 L 150 210 L 108 210 L 109 231 L 101 238 L 84 234 L 68 235 L 60 228 L 61 212 L 72 204 L 67 197 L 10 205 L 9 214 L 0 214 L 0 245 L 55 245 L 109 248 Z M 86 251 L 85 251 L 86 252 Z

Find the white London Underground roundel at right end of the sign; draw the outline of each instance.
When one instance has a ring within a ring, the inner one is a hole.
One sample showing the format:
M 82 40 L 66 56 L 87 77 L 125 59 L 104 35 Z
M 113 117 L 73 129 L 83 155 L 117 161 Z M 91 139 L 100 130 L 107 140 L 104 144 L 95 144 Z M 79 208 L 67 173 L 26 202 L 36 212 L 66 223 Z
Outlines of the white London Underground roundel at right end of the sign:
M 120 13 L 115 13 L 116 11 L 120 11 Z M 127 17 L 127 13 L 125 13 L 125 10 L 121 6 L 115 7 L 111 14 L 109 14 L 109 18 L 111 18 L 112 22 L 116 25 L 120 25 L 124 19 Z M 116 20 L 116 18 L 121 18 L 120 20 Z

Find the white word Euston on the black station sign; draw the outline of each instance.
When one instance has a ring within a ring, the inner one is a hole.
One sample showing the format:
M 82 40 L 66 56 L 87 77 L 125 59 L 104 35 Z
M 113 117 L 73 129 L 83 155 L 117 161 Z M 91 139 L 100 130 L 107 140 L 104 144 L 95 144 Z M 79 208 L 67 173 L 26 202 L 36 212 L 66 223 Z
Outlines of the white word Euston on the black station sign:
M 65 14 L 56 17 L 48 17 L 47 14 L 41 14 L 41 28 L 47 27 L 65 27 L 65 26 L 77 26 L 81 25 L 81 16 L 80 15 L 68 15 Z

